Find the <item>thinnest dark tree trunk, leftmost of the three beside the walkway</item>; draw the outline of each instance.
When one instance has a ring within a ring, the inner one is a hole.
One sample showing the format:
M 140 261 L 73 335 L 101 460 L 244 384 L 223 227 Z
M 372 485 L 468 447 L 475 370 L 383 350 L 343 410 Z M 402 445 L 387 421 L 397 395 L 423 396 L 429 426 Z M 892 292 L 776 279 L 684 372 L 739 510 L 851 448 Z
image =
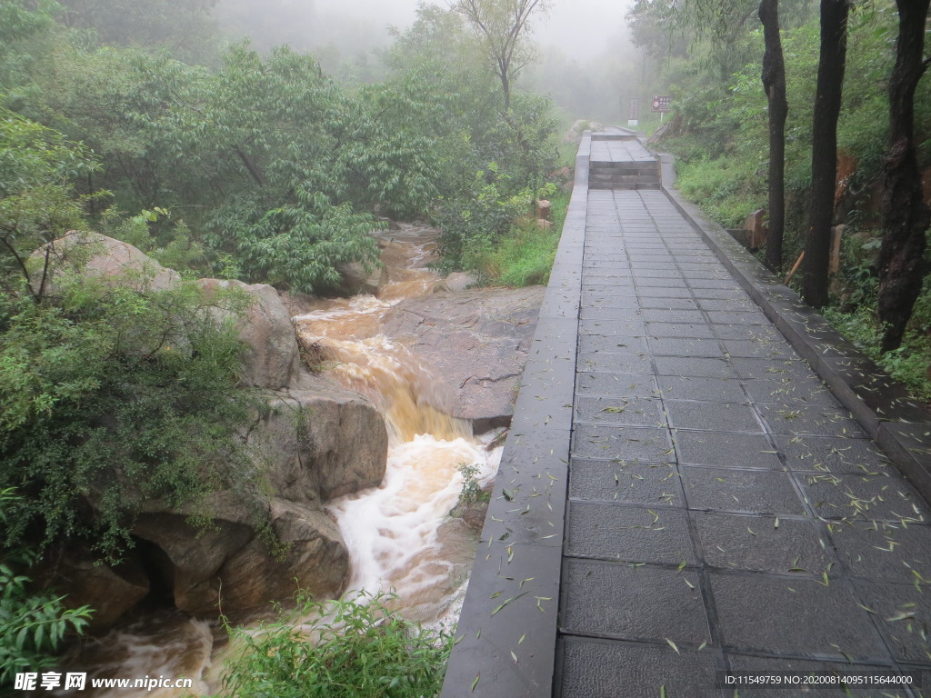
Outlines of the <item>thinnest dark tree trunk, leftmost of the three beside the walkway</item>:
M 766 263 L 782 270 L 782 235 L 786 225 L 786 63 L 779 36 L 779 0 L 761 0 L 760 21 L 766 48 L 762 55 L 762 87 L 769 101 L 769 233 Z

